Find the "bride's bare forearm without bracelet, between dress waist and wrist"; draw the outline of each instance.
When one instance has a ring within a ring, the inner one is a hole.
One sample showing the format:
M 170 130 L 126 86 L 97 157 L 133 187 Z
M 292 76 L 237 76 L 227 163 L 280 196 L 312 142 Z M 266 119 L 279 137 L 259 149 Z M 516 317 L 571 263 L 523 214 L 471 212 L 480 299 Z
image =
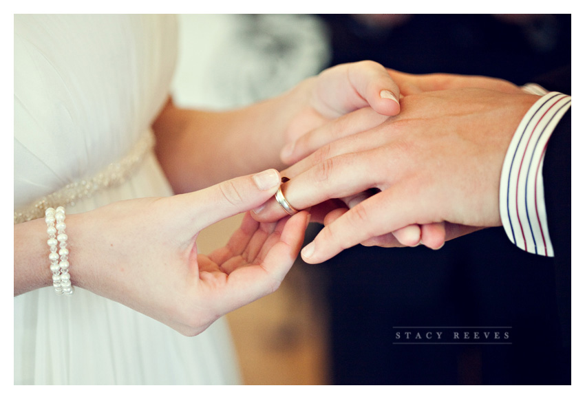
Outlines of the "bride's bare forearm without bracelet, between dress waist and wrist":
M 162 111 L 153 125 L 156 153 L 175 193 L 195 191 L 268 168 L 283 169 L 279 151 L 299 112 L 302 90 L 225 112 Z

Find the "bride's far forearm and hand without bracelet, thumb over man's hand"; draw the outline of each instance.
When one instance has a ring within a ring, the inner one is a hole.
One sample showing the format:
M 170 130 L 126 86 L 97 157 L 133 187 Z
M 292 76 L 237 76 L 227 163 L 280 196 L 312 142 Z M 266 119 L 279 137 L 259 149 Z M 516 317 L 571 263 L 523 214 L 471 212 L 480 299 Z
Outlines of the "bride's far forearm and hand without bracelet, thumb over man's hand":
M 381 96 L 393 91 L 391 98 Z M 363 107 L 396 115 L 400 107 L 392 98 L 399 95 L 382 65 L 362 61 L 326 69 L 242 109 L 208 112 L 169 102 L 153 124 L 156 153 L 175 193 L 188 193 L 269 167 L 284 169 L 279 153 L 286 142 Z

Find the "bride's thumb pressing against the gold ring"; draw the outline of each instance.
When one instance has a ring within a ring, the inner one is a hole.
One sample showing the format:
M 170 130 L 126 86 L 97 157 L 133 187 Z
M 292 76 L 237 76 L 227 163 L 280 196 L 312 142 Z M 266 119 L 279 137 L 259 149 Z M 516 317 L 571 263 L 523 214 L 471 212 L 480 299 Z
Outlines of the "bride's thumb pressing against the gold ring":
M 196 223 L 201 229 L 258 208 L 275 195 L 280 183 L 278 171 L 268 169 L 255 175 L 235 177 L 187 195 L 191 196 L 191 204 L 197 204 Z

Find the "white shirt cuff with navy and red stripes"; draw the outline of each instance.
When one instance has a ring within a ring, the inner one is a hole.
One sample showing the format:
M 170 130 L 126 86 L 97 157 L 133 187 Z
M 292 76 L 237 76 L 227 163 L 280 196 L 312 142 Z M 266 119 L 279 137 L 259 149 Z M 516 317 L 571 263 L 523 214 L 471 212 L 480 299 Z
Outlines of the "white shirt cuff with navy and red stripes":
M 547 257 L 554 251 L 546 222 L 542 163 L 546 144 L 570 107 L 571 96 L 556 91 L 531 107 L 514 133 L 500 180 L 500 218 L 508 238 L 522 250 Z

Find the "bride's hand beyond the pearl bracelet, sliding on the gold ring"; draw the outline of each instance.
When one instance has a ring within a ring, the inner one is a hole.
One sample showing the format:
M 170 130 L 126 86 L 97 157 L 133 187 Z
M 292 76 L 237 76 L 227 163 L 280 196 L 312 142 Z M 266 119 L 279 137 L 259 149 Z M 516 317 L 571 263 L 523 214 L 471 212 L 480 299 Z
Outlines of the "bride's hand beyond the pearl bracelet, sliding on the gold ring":
M 273 223 L 244 217 L 224 248 L 198 254 L 200 230 L 255 208 L 280 184 L 275 170 L 193 193 L 116 202 L 67 216 L 74 285 L 182 334 L 276 290 L 301 247 L 308 213 Z

